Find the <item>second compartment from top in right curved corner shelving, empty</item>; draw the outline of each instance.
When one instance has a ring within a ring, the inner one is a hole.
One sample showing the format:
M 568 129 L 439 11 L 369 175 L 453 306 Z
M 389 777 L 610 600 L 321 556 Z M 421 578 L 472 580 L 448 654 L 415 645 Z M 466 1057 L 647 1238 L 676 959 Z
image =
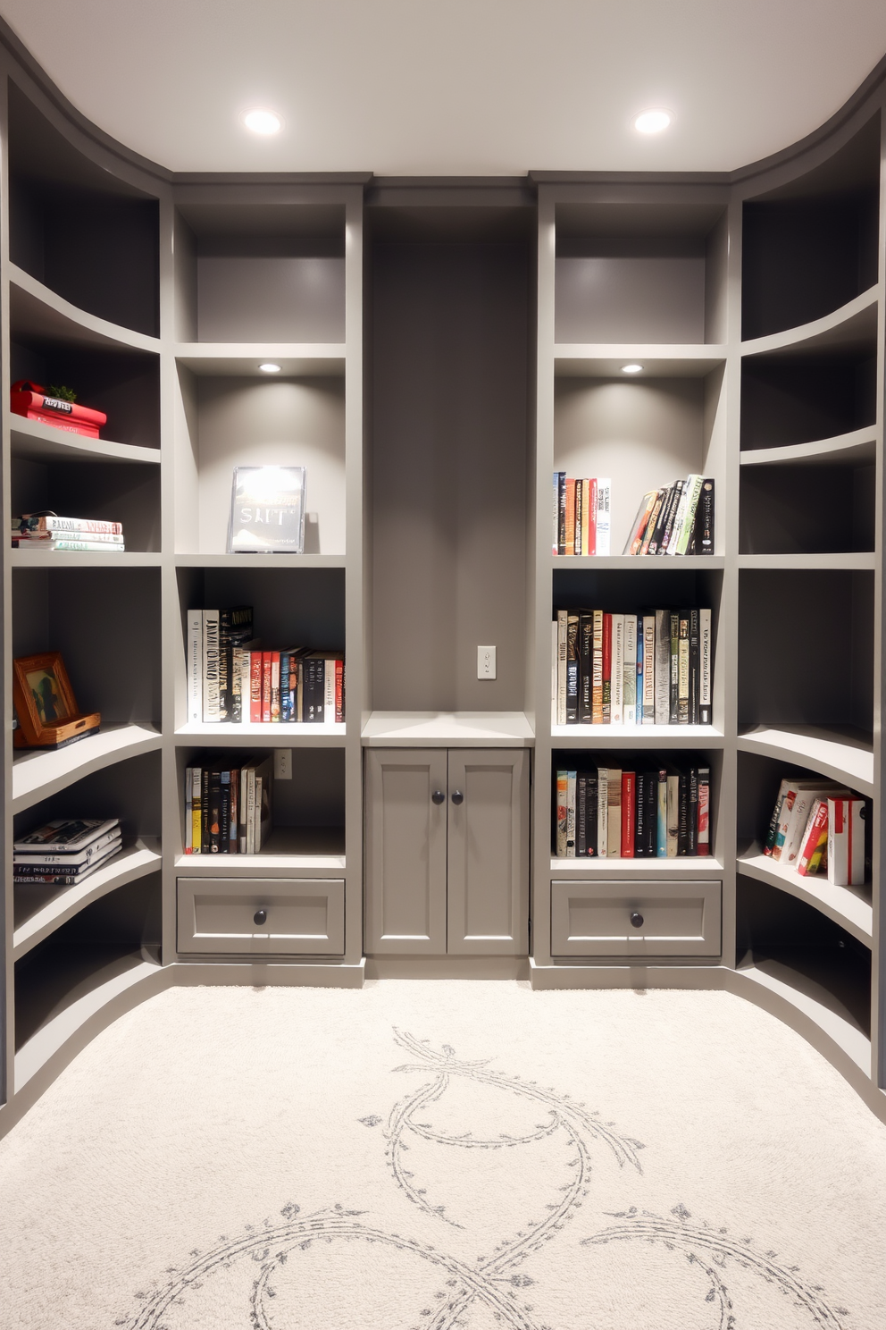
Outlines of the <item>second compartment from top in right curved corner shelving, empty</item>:
M 743 450 L 832 439 L 875 419 L 873 336 L 850 346 L 754 355 L 743 362 Z

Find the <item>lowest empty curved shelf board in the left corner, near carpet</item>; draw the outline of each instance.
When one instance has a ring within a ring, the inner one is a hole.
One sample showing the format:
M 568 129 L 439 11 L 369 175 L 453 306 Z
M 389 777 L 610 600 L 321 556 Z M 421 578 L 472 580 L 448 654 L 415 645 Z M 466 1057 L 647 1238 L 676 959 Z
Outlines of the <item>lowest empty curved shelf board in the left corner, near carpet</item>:
M 16 1093 L 56 1055 L 68 1061 L 112 1020 L 169 983 L 171 974 L 153 958 L 146 959 L 143 950 L 110 955 L 98 964 L 86 951 L 70 955 L 66 964 L 61 960 L 53 974 L 58 1001 L 16 1052 Z

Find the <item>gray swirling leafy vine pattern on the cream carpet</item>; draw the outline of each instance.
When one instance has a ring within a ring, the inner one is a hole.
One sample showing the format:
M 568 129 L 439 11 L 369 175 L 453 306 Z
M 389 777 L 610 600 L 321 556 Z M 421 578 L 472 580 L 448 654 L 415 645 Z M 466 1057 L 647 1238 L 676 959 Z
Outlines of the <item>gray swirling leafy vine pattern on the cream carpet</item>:
M 429 1245 L 418 1237 L 388 1232 L 373 1224 L 367 1210 L 347 1209 L 339 1204 L 306 1214 L 296 1204 L 288 1204 L 279 1218 L 266 1220 L 258 1228 L 247 1225 L 239 1237 L 222 1237 L 211 1250 L 191 1250 L 190 1261 L 182 1269 L 166 1271 L 170 1278 L 162 1286 L 135 1294 L 141 1303 L 138 1311 L 118 1319 L 117 1326 L 126 1330 L 177 1330 L 173 1321 L 187 1323 L 182 1321 L 182 1314 L 187 1315 L 186 1309 L 198 1305 L 194 1299 L 206 1295 L 214 1277 L 239 1269 L 240 1275 L 247 1273 L 238 1286 L 248 1290 L 248 1305 L 243 1305 L 239 1315 L 231 1309 L 230 1323 L 240 1325 L 243 1330 L 290 1330 L 288 1319 L 275 1315 L 275 1301 L 282 1283 L 292 1277 L 299 1254 L 319 1242 L 363 1242 L 395 1249 L 430 1266 L 438 1275 L 440 1286 L 430 1305 L 416 1307 L 414 1325 L 409 1330 L 469 1330 L 476 1310 L 485 1311 L 502 1330 L 563 1330 L 537 1319 L 527 1290 L 541 1289 L 543 1275 L 530 1274 L 523 1266 L 546 1244 L 569 1241 L 569 1225 L 590 1192 L 594 1152 L 604 1149 L 620 1168 L 642 1174 L 639 1152 L 643 1144 L 622 1134 L 614 1123 L 603 1121 L 599 1112 L 575 1103 L 569 1095 L 558 1095 L 535 1081 L 491 1069 L 489 1059 L 464 1061 L 449 1044 L 437 1052 L 409 1033 L 399 1029 L 393 1033 L 396 1043 L 413 1059 L 393 1069 L 425 1077 L 430 1075 L 418 1089 L 395 1104 L 384 1128 L 385 1158 L 402 1196 L 442 1225 L 464 1230 L 460 1218 L 428 1194 L 409 1166 L 406 1154 L 414 1141 L 458 1150 L 509 1150 L 559 1137 L 569 1146 L 569 1173 L 551 1177 L 543 1217 L 503 1238 L 490 1256 L 472 1262 L 448 1252 L 444 1242 Z M 458 1134 L 437 1130 L 424 1119 L 457 1079 L 515 1096 L 538 1108 L 543 1120 L 519 1134 L 502 1132 L 481 1137 L 470 1130 Z M 369 1129 L 385 1123 L 377 1113 L 357 1121 Z M 675 1261 L 688 1262 L 699 1275 L 699 1301 L 709 1309 L 705 1318 L 709 1330 L 743 1330 L 741 1306 L 735 1303 L 732 1290 L 732 1271 L 736 1270 L 764 1281 L 786 1298 L 804 1325 L 846 1330 L 842 1319 L 849 1315 L 846 1309 L 830 1306 L 824 1289 L 805 1283 L 797 1266 L 780 1261 L 776 1252 L 757 1252 L 751 1238 L 736 1240 L 723 1226 L 699 1222 L 681 1204 L 665 1217 L 638 1206 L 606 1213 L 618 1222 L 578 1240 L 576 1246 L 592 1258 L 595 1249 L 643 1244 L 662 1246 Z M 590 1325 L 587 1309 L 582 1311 L 582 1325 Z M 748 1323 L 748 1330 L 760 1327 Z

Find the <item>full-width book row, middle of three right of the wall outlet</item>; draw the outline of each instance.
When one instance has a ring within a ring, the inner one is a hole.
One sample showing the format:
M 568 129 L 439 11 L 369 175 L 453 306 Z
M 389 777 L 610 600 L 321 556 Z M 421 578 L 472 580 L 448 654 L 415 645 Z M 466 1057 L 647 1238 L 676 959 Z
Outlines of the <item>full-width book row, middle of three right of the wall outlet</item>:
M 551 646 L 554 725 L 711 724 L 709 609 L 558 609 Z

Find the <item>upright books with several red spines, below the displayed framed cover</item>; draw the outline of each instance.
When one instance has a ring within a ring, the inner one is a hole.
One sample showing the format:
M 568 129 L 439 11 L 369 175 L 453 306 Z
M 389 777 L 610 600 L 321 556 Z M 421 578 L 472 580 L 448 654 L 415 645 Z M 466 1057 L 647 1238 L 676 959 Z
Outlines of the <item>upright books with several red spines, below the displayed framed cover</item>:
M 344 654 L 264 650 L 252 606 L 189 609 L 187 720 L 274 725 L 344 724 Z

